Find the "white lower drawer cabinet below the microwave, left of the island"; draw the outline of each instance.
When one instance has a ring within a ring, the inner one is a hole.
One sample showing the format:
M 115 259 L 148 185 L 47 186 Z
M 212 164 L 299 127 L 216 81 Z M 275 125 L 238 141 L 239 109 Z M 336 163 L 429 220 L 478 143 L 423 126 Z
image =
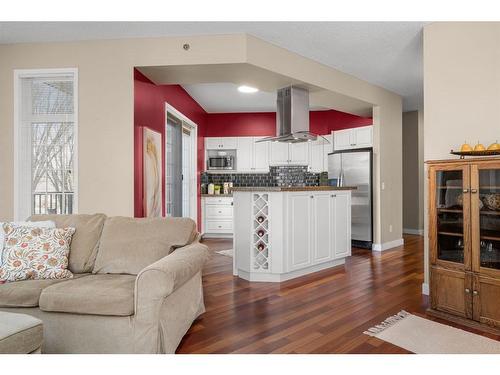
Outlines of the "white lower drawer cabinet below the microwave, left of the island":
M 202 229 L 207 237 L 230 237 L 233 234 L 233 198 L 203 197 Z

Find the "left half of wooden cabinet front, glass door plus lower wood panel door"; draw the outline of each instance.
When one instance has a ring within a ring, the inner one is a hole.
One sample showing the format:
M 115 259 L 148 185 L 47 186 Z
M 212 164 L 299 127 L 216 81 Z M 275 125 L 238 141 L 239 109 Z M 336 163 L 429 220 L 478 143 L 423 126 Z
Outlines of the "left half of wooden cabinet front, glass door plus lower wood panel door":
M 431 307 L 471 318 L 469 166 L 431 166 L 429 174 Z

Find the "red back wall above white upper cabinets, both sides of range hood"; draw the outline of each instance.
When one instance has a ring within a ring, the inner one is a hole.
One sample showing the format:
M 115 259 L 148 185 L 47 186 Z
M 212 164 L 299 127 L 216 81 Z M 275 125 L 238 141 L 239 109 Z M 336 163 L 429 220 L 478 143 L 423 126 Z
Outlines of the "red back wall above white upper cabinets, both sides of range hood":
M 209 113 L 206 137 L 272 136 L 276 133 L 274 112 L 256 113 Z M 335 110 L 311 111 L 310 130 L 316 134 L 330 134 L 342 130 L 372 124 L 371 117 L 360 117 Z

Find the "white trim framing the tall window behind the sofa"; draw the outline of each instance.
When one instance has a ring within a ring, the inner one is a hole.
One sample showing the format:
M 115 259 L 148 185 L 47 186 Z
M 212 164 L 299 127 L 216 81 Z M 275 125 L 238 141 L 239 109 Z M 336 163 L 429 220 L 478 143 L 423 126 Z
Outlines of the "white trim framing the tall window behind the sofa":
M 79 201 L 79 175 L 78 175 L 78 68 L 55 68 L 55 69 L 14 69 L 14 220 L 23 221 L 26 217 L 21 217 L 19 212 L 19 202 L 21 197 L 20 191 L 20 153 L 23 150 L 19 149 L 19 138 L 20 138 L 20 93 L 21 93 L 21 79 L 22 78 L 33 78 L 33 77 L 50 77 L 50 76 L 61 76 L 65 74 L 73 75 L 73 96 L 74 96 L 74 160 L 73 160 L 73 183 L 74 183 L 74 195 L 73 195 L 73 213 L 78 213 L 78 201 Z

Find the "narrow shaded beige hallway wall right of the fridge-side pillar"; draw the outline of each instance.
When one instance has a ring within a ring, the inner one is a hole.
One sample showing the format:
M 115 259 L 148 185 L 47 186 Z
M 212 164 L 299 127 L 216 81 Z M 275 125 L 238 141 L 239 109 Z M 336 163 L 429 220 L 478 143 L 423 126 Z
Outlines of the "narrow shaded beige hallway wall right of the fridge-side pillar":
M 419 111 L 403 113 L 403 231 L 424 228 L 423 123 Z

